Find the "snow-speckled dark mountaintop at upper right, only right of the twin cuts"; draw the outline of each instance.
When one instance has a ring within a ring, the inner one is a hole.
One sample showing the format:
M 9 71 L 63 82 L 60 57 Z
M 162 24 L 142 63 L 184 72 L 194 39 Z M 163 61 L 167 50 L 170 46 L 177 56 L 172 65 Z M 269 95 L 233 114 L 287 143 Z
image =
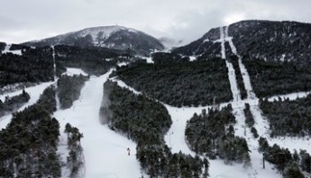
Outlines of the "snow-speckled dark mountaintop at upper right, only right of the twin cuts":
M 310 23 L 242 21 L 229 25 L 228 35 L 241 56 L 310 61 L 310 31 Z

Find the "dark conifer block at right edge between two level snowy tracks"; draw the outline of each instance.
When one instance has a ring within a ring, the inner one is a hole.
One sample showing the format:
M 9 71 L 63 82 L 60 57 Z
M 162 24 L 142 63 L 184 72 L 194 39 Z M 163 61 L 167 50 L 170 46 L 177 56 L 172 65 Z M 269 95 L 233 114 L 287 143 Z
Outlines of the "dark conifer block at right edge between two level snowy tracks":
M 260 107 L 270 122 L 271 137 L 311 136 L 311 94 L 293 101 L 261 100 Z

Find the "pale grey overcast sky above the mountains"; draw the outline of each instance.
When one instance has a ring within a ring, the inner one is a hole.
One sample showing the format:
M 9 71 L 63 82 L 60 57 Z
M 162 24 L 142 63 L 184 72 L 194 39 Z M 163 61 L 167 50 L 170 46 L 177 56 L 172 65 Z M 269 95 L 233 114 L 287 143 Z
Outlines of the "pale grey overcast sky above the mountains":
M 241 20 L 311 22 L 310 8 L 310 0 L 3 0 L 0 41 L 40 40 L 118 24 L 189 42 Z

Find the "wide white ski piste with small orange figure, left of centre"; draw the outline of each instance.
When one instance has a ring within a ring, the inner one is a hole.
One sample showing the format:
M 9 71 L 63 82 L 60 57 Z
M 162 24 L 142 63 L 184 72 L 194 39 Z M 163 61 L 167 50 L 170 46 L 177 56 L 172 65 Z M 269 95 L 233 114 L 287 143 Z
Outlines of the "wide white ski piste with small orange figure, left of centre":
M 135 156 L 136 144 L 99 122 L 103 85 L 110 74 L 91 77 L 78 101 L 67 110 L 54 112 L 54 117 L 59 120 L 61 138 L 66 137 L 63 130 L 68 122 L 83 133 L 85 177 L 139 177 L 142 174 Z M 127 156 L 127 147 L 131 149 L 131 156 Z M 66 149 L 62 151 L 66 157 Z M 63 172 L 68 173 L 66 169 Z

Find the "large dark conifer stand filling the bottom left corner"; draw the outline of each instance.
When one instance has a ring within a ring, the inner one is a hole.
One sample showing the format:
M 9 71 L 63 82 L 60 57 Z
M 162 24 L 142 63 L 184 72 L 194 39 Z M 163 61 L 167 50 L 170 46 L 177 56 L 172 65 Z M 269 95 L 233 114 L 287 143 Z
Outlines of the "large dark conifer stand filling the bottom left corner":
M 37 103 L 15 112 L 0 131 L 1 177 L 60 177 L 59 122 L 50 117 L 55 104 L 50 86 Z

